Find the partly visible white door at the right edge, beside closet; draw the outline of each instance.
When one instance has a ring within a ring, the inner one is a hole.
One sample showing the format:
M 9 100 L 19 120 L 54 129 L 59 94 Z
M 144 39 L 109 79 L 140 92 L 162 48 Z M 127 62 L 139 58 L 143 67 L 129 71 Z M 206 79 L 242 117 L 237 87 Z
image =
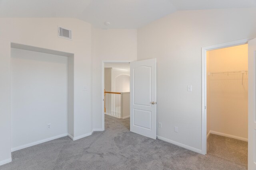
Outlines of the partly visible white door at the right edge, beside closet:
M 256 39 L 248 42 L 248 170 L 256 170 Z

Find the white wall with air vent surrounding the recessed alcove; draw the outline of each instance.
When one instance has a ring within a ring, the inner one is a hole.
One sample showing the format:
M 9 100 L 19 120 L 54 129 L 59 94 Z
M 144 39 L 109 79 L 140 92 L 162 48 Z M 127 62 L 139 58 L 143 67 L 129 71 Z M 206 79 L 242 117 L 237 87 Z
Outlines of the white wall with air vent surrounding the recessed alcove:
M 0 161 L 11 159 L 11 42 L 74 54 L 74 137 L 90 134 L 91 25 L 72 18 L 0 18 L 0 23 Z M 58 26 L 71 29 L 72 40 L 59 38 Z

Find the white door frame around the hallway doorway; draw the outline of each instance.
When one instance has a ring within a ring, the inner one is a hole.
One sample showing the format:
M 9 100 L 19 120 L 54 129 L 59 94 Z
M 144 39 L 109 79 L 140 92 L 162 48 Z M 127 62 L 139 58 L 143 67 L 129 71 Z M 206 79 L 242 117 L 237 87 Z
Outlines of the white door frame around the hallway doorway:
M 102 131 L 105 130 L 105 113 L 104 113 L 104 66 L 105 63 L 131 63 L 132 61 L 118 61 L 118 60 L 110 60 L 110 61 L 101 61 L 101 128 Z

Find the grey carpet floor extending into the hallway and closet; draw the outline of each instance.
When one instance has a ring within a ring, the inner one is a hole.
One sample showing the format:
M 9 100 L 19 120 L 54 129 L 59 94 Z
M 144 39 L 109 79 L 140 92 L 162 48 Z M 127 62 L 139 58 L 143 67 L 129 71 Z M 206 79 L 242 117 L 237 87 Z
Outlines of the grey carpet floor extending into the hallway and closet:
M 12 152 L 0 170 L 246 170 L 247 142 L 210 135 L 208 154 L 131 133 L 130 119 L 105 116 L 105 131 Z

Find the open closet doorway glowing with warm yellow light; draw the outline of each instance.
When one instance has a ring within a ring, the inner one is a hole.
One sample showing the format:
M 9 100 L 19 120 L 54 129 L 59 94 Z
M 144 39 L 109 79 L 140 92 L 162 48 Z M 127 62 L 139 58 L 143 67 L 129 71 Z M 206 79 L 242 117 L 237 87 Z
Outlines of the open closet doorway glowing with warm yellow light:
M 206 152 L 247 167 L 248 45 L 206 51 Z

